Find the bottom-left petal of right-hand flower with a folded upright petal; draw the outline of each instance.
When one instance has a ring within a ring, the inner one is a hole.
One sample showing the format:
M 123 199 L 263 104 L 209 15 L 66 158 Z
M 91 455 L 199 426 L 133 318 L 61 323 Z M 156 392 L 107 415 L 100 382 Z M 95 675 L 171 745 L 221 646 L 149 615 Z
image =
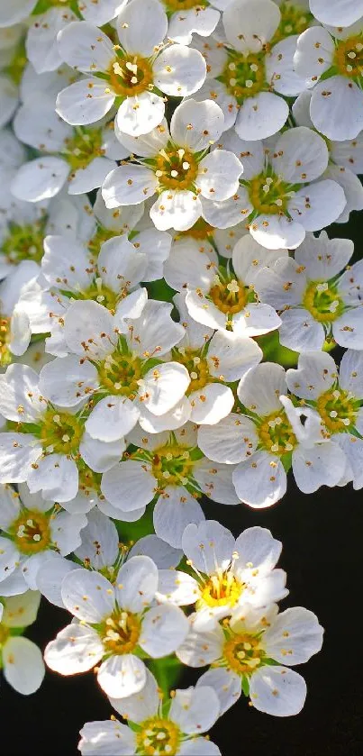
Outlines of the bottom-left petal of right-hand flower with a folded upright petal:
M 282 462 L 266 451 L 240 462 L 232 473 L 240 501 L 259 508 L 276 504 L 286 494 L 286 472 Z

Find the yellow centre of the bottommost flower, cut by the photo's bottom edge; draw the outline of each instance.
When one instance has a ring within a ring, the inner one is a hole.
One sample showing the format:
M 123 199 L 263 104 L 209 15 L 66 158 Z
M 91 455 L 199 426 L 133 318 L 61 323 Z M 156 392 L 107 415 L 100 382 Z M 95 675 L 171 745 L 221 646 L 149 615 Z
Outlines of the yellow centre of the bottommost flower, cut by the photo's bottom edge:
M 177 724 L 153 716 L 141 723 L 141 729 L 136 734 L 136 752 L 142 756 L 175 756 L 180 740 Z

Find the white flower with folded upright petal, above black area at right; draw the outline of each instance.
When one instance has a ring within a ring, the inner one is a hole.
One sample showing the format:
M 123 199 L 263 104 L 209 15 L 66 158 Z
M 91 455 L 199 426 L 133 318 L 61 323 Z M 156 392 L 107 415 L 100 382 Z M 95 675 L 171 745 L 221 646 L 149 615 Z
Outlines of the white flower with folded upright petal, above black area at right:
M 343 457 L 329 442 L 319 414 L 295 408 L 286 393 L 284 368 L 265 362 L 240 380 L 240 414 L 199 429 L 198 445 L 206 457 L 237 465 L 233 483 L 240 500 L 250 506 L 276 504 L 286 493 L 290 467 L 304 493 L 336 486 L 344 473 Z

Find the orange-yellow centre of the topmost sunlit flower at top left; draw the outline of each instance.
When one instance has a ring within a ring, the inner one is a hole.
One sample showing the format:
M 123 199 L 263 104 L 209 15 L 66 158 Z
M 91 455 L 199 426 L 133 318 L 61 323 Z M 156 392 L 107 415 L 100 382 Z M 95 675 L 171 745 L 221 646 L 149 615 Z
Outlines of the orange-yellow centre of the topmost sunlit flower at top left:
M 123 57 L 121 53 L 108 71 L 108 80 L 115 95 L 133 97 L 152 89 L 153 72 L 149 60 L 139 55 Z

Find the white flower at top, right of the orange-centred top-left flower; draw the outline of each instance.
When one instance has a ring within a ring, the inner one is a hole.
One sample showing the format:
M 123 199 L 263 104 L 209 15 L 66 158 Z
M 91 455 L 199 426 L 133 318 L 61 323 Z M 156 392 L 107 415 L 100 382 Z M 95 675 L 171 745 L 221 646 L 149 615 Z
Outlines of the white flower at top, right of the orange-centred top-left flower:
M 304 31 L 308 15 L 301 14 L 305 23 L 302 28 L 296 24 L 296 32 Z M 224 128 L 234 124 L 241 139 L 266 139 L 286 123 L 284 97 L 298 95 L 308 83 L 293 68 L 294 24 L 283 21 L 271 0 L 233 0 L 222 24 L 224 44 L 219 37 L 205 44 L 210 77 L 196 99 L 211 98 L 220 105 Z

